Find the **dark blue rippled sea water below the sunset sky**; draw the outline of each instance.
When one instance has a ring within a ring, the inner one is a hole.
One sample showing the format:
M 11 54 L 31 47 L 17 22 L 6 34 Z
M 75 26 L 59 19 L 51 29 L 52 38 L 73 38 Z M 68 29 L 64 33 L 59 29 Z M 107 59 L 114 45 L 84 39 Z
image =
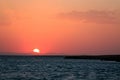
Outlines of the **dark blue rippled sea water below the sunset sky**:
M 120 63 L 1 56 L 0 80 L 120 80 Z

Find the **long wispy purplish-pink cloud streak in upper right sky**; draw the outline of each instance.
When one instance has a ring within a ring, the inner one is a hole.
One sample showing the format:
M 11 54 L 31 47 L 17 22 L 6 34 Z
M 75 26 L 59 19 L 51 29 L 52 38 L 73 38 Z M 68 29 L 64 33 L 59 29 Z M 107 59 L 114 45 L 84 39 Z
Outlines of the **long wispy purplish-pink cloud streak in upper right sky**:
M 82 22 L 92 22 L 100 24 L 119 24 L 120 12 L 119 11 L 72 11 L 68 13 L 60 13 L 59 17 L 62 19 L 78 20 Z

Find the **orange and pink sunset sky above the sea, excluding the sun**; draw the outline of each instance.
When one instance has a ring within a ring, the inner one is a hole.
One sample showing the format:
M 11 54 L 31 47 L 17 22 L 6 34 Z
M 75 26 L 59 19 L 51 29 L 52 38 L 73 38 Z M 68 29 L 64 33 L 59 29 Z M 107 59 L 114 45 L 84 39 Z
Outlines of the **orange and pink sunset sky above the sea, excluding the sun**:
M 0 0 L 0 52 L 120 54 L 120 0 Z

